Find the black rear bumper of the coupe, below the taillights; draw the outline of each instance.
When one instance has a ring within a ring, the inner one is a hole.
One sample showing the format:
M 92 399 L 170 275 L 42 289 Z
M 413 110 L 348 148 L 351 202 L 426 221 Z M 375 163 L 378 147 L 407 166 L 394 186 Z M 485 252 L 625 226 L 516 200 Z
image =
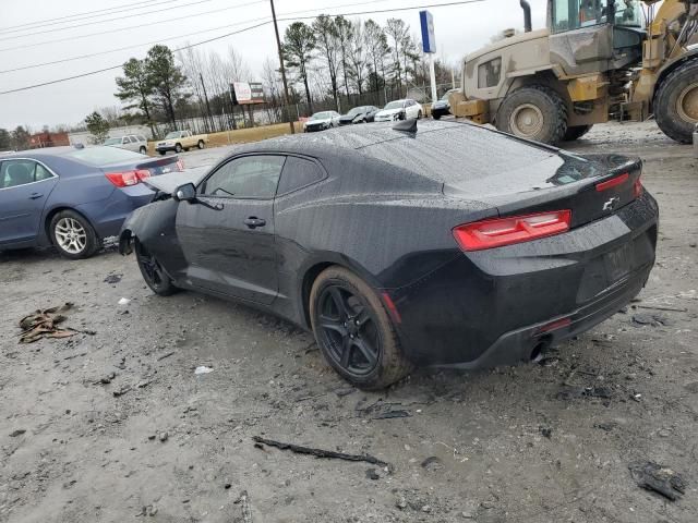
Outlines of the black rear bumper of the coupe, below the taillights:
M 489 367 L 529 360 L 603 321 L 643 287 L 654 264 L 658 208 L 646 192 L 607 218 L 556 236 L 460 253 L 388 293 L 414 363 Z M 542 331 L 541 327 L 565 325 Z

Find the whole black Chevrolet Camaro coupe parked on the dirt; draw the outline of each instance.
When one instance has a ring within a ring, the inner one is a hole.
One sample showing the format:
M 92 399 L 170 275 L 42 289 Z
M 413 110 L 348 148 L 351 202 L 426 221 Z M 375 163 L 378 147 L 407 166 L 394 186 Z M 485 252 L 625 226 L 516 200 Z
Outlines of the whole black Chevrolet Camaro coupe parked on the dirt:
M 123 226 L 158 294 L 190 289 L 312 329 L 358 387 L 414 365 L 534 360 L 615 314 L 654 262 L 640 160 L 474 124 L 352 125 L 246 145 Z

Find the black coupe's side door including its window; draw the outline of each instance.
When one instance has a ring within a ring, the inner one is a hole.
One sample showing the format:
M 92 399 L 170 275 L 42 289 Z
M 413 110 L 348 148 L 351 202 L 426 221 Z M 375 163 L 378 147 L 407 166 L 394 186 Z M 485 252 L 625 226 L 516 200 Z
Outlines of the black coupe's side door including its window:
M 188 281 L 269 304 L 278 293 L 274 196 L 286 157 L 245 155 L 216 168 L 182 203 L 177 235 Z

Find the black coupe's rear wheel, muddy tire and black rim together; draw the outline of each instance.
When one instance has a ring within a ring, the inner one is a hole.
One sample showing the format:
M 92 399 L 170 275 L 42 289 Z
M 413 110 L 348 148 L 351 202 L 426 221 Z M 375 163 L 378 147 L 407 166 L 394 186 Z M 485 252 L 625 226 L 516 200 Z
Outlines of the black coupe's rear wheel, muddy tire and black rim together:
M 310 317 L 323 356 L 354 387 L 384 389 L 412 370 L 381 299 L 353 272 L 333 266 L 320 273 Z

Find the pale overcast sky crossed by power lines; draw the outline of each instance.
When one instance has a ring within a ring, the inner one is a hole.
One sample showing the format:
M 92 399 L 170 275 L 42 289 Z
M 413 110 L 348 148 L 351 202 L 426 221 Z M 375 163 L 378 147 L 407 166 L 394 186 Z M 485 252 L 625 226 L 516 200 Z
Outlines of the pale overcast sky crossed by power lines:
M 275 4 L 277 16 L 284 17 L 285 13 L 299 11 L 303 11 L 297 14 L 299 16 L 342 14 L 449 1 L 453 0 L 276 0 Z M 545 22 L 545 1 L 530 0 L 530 3 L 533 28 L 542 27 Z M 113 9 L 98 16 L 94 13 L 109 8 Z M 518 0 L 484 0 L 466 5 L 431 7 L 429 10 L 434 16 L 437 54 L 450 63 L 486 44 L 497 32 L 507 27 L 520 29 L 524 25 Z M 267 0 L 2 0 L 1 12 L 0 92 L 106 69 L 121 64 L 131 57 L 143 58 L 155 40 L 176 48 L 254 25 L 270 16 Z M 55 20 L 72 15 L 75 16 Z M 119 17 L 121 20 L 115 20 Z M 381 24 L 389 17 L 401 17 L 413 34 L 419 32 L 419 9 L 351 17 L 372 17 Z M 27 25 L 32 23 L 37 24 Z M 288 24 L 290 22 L 280 23 L 281 34 Z M 20 25 L 23 27 L 17 27 Z M 67 26 L 77 27 L 64 28 Z M 209 31 L 213 28 L 218 29 Z M 60 64 L 5 72 L 130 46 L 137 47 Z M 225 54 L 228 46 L 233 46 L 253 74 L 258 75 L 264 59 L 276 57 L 274 27 L 267 24 L 205 44 L 200 49 L 213 49 Z M 119 74 L 120 70 L 107 71 L 0 95 L 0 127 L 14 129 L 22 124 L 37 131 L 44 124 L 79 123 L 95 109 L 119 104 L 113 96 L 115 77 Z

